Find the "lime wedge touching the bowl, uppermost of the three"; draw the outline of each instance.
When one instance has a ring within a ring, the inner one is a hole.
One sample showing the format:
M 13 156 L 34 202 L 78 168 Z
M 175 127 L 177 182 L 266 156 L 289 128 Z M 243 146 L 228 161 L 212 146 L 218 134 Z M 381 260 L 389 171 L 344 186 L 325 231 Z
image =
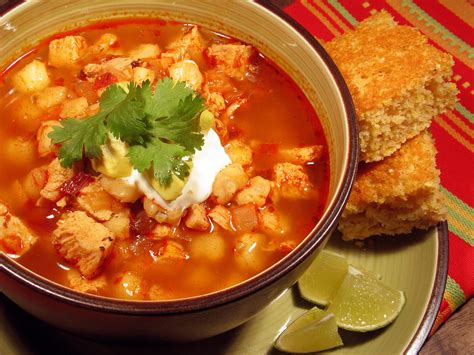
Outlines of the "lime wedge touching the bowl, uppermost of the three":
M 323 250 L 298 280 L 301 297 L 318 306 L 327 306 L 344 281 L 347 268 L 346 258 Z

